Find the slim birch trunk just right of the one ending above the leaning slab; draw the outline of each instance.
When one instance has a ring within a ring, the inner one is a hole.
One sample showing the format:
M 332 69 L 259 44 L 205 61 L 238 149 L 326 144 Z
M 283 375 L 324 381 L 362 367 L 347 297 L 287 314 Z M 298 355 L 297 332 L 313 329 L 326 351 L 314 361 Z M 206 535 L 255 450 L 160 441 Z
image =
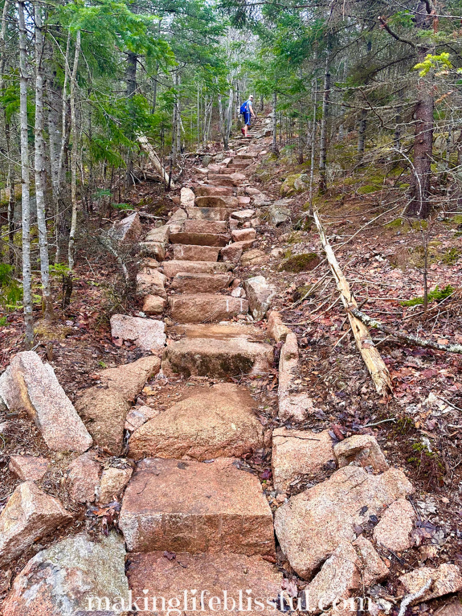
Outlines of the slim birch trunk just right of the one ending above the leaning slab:
M 45 141 L 43 138 L 43 53 L 44 38 L 42 30 L 42 9 L 38 2 L 34 4 L 35 16 L 35 198 L 37 204 L 37 225 L 39 232 L 40 272 L 42 278 L 42 310 L 47 320 L 53 318 L 53 300 L 51 296 L 50 266 L 48 258 L 48 238 L 45 214 Z

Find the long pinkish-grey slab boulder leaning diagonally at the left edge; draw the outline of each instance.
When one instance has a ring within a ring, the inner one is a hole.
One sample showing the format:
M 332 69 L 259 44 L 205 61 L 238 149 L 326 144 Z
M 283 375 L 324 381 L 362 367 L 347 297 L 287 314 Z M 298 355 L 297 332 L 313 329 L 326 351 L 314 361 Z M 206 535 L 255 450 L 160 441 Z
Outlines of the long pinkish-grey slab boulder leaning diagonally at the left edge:
M 53 368 L 34 351 L 15 355 L 0 376 L 0 400 L 10 411 L 25 409 L 52 451 L 84 452 L 92 444 Z

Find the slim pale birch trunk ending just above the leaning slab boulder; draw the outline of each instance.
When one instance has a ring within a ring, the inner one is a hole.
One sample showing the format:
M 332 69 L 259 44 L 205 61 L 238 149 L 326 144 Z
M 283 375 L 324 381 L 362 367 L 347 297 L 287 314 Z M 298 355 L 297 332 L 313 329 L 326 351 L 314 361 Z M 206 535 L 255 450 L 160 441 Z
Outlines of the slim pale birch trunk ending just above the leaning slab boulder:
M 32 314 L 32 273 L 30 264 L 30 177 L 29 177 L 29 144 L 27 134 L 27 83 L 26 71 L 26 23 L 24 2 L 18 2 L 19 22 L 19 73 L 20 73 L 20 132 L 21 132 L 21 206 L 22 206 L 22 285 L 25 338 L 28 348 L 34 338 L 34 322 Z

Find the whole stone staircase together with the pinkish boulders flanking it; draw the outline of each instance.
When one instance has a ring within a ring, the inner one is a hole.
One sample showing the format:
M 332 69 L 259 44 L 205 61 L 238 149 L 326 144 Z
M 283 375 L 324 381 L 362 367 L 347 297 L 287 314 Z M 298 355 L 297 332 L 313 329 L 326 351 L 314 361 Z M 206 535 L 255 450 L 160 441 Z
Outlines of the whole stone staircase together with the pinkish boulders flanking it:
M 194 191 L 182 188 L 179 208 L 140 243 L 144 316 L 113 315 L 111 333 L 116 344 L 129 341 L 150 355 L 101 371 L 75 408 L 32 352 L 18 354 L 1 376 L 0 402 L 9 410 L 29 405 L 51 450 L 81 454 L 65 480 L 73 501 L 112 511 L 118 498 L 124 539 L 111 532 L 91 541 L 83 532 L 40 551 L 15 578 L 4 616 L 83 614 L 89 594 L 112 603 L 129 590 L 129 609 L 89 613 L 276 614 L 296 609 L 288 601 L 298 594 L 298 609 L 320 614 L 333 605 L 329 616 L 346 616 L 351 607 L 336 602 L 365 596 L 389 575 L 390 554 L 412 545 L 413 487 L 402 469 L 389 468 L 374 436 L 335 442 L 328 429 L 290 427 L 317 411 L 300 385 L 296 334 L 275 311 L 260 327 L 273 290 L 261 276 L 241 283 L 234 275 L 246 254 L 259 253 L 248 196 L 258 191 L 242 173 L 256 156 L 251 144 L 245 140 L 236 155 L 214 164 Z M 256 414 L 261 400 L 240 383 L 274 374 L 274 342 L 282 342 L 278 411 L 268 425 L 285 427 L 272 430 Z M 175 397 L 160 408 L 132 408 L 155 375 L 158 389 L 174 386 Z M 68 420 L 59 423 L 63 409 Z M 98 450 L 88 450 L 92 442 L 112 456 L 104 468 Z M 269 448 L 273 489 L 264 492 L 244 460 Z M 10 467 L 30 457 L 15 456 Z M 25 471 L 16 472 L 23 483 L 0 514 L 0 565 L 73 519 Z M 312 487 L 290 496 L 307 480 Z M 434 582 L 421 601 L 462 589 L 455 564 L 405 573 L 399 580 L 407 592 L 422 585 L 415 573 Z

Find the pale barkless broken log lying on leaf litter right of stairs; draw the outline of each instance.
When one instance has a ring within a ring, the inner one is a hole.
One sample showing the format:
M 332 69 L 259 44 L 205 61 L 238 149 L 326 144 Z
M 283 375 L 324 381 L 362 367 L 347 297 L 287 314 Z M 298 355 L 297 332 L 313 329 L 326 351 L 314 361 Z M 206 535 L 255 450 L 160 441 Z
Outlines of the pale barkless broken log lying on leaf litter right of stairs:
M 319 237 L 322 247 L 327 257 L 328 264 L 330 265 L 331 272 L 334 280 L 336 281 L 337 290 L 340 294 L 342 304 L 347 310 L 348 319 L 351 325 L 356 345 L 359 349 L 363 362 L 365 363 L 372 380 L 375 384 L 376 391 L 385 395 L 392 391 L 392 384 L 390 373 L 386 367 L 381 355 L 377 351 L 374 342 L 371 339 L 368 328 L 364 323 L 351 312 L 351 307 L 358 307 L 355 298 L 350 291 L 350 285 L 347 279 L 344 277 L 342 270 L 338 264 L 338 261 L 334 255 L 332 246 L 327 241 L 326 234 L 319 219 L 317 211 L 314 210 L 313 218 L 315 225 L 318 229 Z

